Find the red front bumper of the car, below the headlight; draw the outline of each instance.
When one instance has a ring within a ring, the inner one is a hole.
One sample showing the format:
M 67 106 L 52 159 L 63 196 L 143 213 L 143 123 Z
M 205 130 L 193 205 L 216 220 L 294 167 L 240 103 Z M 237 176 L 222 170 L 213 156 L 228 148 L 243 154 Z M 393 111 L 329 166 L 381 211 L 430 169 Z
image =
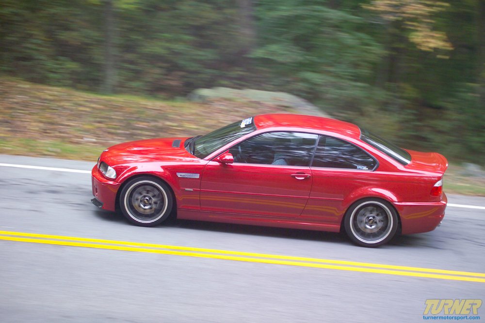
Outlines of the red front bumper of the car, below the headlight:
M 120 184 L 106 179 L 95 165 L 91 170 L 91 185 L 95 197 L 93 200 L 96 200 L 96 203 L 91 200 L 93 204 L 103 210 L 115 211 L 116 193 Z

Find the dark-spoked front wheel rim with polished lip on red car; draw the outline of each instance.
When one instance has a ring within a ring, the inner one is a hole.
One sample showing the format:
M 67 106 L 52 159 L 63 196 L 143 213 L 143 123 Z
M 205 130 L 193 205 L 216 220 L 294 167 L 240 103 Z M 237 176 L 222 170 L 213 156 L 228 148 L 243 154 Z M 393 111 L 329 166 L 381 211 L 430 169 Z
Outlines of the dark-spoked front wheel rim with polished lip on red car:
M 167 210 L 167 193 L 158 183 L 145 180 L 131 185 L 125 195 L 128 215 L 141 223 L 160 219 Z

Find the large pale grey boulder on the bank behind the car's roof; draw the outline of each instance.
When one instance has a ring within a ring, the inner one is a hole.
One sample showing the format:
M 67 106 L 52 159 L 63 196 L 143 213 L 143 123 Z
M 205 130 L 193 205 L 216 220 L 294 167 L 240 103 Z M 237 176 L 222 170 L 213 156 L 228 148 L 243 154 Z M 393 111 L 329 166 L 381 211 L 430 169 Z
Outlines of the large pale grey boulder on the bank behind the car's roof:
M 330 116 L 320 108 L 312 105 L 305 99 L 285 92 L 269 92 L 260 90 L 235 90 L 230 88 L 197 89 L 191 92 L 187 98 L 191 101 L 208 101 L 211 99 L 240 100 L 261 102 L 289 109 L 288 112 L 327 117 Z M 295 111 L 290 111 L 294 109 Z

